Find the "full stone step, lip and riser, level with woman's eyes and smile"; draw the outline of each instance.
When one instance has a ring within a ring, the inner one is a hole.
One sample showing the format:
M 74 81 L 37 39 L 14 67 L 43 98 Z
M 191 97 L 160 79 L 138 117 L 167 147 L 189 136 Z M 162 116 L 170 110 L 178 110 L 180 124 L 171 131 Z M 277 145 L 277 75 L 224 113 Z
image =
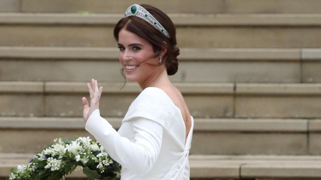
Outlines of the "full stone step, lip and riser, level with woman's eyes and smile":
M 118 53 L 116 47 L 0 46 L 0 81 L 87 81 L 92 72 L 99 81 L 124 81 Z M 178 59 L 172 82 L 321 82 L 320 48 L 181 48 Z

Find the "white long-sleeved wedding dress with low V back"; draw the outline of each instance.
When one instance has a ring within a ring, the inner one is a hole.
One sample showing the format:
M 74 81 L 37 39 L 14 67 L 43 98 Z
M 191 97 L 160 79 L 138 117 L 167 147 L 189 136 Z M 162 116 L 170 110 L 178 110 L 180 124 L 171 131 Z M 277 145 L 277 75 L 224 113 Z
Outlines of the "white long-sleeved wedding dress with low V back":
M 121 180 L 188 180 L 191 120 L 185 143 L 180 109 L 162 89 L 147 87 L 131 103 L 118 132 L 99 109 L 85 128 L 122 165 Z

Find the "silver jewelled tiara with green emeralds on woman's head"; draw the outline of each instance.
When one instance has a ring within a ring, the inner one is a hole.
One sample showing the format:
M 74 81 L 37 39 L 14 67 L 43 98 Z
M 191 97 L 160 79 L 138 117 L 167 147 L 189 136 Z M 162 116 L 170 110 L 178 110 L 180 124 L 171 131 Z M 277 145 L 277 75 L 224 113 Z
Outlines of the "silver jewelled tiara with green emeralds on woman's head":
M 150 23 L 153 27 L 158 29 L 163 35 L 170 38 L 167 30 L 156 20 L 152 14 L 150 14 L 145 8 L 138 4 L 133 4 L 129 6 L 125 12 L 125 18 L 128 16 L 137 16 L 139 18 L 142 18 L 143 20 L 146 20 L 148 23 Z

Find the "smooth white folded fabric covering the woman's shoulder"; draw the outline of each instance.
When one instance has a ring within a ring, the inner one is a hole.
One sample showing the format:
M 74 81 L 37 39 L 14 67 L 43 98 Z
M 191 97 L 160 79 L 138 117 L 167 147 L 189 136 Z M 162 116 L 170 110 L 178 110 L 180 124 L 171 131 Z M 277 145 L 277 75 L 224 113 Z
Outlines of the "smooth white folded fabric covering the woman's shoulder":
M 161 90 L 155 87 L 147 87 L 131 103 L 122 122 L 141 117 L 166 127 L 169 116 L 168 102 Z

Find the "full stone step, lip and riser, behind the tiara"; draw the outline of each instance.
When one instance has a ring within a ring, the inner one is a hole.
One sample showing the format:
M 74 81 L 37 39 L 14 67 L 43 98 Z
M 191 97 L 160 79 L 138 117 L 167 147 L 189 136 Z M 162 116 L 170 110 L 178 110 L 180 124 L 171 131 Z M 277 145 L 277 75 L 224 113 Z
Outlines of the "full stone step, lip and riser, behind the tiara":
M 178 47 L 319 48 L 321 14 L 169 14 Z M 121 14 L 1 13 L 0 46 L 115 47 Z M 74 33 L 77 32 L 77 33 Z

